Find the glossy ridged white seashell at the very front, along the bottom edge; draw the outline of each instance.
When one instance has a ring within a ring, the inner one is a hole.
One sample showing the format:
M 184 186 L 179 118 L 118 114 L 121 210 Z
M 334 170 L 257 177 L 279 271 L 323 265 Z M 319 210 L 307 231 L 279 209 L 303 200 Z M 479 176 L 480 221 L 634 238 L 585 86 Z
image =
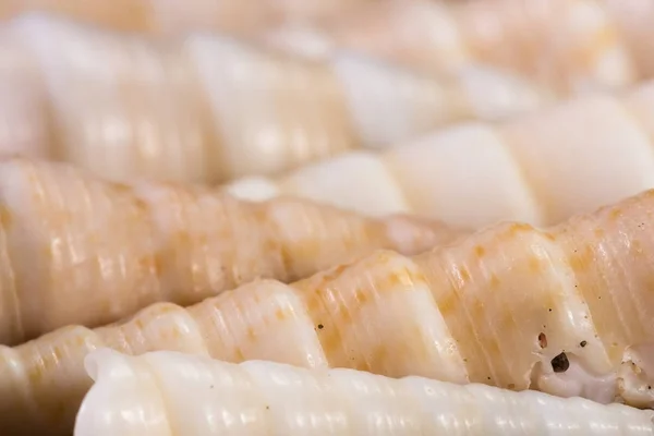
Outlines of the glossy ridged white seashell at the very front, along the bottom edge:
M 75 436 L 651 435 L 653 412 L 481 384 L 98 350 Z M 189 399 L 193 401 L 189 401 Z

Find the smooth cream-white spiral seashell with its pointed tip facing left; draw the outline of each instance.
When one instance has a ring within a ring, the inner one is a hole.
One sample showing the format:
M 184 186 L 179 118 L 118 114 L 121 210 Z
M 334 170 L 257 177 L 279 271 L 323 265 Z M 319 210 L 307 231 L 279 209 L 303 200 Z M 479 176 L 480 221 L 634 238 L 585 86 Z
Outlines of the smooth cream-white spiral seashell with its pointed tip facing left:
M 382 154 L 354 150 L 277 178 L 235 180 L 226 190 L 470 228 L 507 219 L 550 226 L 654 187 L 653 142 L 654 82 L 646 82 L 501 123 L 462 123 Z

